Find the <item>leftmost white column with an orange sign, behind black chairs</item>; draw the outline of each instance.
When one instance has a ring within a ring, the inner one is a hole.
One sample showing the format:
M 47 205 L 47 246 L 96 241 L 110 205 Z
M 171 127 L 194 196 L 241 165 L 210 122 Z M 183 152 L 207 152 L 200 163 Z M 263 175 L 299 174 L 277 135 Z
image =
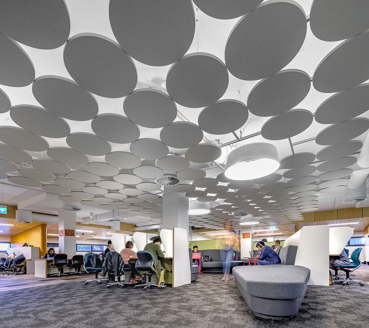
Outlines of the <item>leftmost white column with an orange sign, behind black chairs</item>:
M 76 212 L 59 210 L 59 231 L 63 230 L 63 236 L 59 236 L 59 253 L 68 254 L 72 258 L 76 254 Z M 65 230 L 73 230 L 74 236 L 65 234 Z

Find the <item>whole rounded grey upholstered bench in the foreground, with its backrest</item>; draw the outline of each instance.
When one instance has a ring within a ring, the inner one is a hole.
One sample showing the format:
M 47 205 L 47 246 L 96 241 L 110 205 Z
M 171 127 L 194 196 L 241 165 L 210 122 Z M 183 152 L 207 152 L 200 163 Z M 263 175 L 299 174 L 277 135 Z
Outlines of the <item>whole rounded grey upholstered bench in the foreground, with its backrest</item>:
M 282 264 L 233 269 L 236 286 L 256 316 L 284 319 L 299 312 L 310 270 L 293 265 L 296 252 L 297 247 L 289 245 L 280 250 Z

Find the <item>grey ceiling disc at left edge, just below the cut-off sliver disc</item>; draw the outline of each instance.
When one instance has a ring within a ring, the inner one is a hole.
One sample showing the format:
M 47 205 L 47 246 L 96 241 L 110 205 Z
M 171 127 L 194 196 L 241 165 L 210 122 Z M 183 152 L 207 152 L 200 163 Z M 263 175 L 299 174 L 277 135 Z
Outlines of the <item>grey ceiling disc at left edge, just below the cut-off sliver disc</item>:
M 0 126 L 0 140 L 15 148 L 30 151 L 44 151 L 49 148 L 43 137 L 16 126 Z

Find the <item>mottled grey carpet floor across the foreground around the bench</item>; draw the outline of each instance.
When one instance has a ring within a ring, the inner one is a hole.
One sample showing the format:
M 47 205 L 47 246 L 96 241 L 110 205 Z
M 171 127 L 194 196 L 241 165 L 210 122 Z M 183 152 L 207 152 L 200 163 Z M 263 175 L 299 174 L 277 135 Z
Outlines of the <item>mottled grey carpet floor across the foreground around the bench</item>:
M 288 320 L 257 318 L 234 279 L 204 274 L 177 288 L 132 289 L 83 282 L 1 293 L 1 327 L 368 327 L 368 285 L 308 286 Z

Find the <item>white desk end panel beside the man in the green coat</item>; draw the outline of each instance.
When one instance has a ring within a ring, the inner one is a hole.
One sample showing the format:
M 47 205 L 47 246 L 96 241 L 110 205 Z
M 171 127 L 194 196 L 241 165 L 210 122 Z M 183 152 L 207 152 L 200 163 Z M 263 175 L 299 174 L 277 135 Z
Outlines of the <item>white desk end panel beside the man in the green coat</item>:
M 173 229 L 173 287 L 191 283 L 187 230 Z

